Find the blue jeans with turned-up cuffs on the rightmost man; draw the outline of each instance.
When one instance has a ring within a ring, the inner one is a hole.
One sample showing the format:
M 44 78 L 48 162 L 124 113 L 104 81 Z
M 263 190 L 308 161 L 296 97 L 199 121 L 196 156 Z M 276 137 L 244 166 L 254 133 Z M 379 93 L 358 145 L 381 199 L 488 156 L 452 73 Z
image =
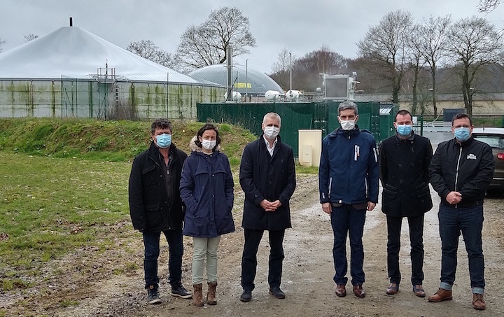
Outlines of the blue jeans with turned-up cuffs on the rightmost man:
M 469 275 L 472 293 L 482 294 L 484 282 L 484 258 L 482 248 L 483 206 L 454 208 L 440 205 L 437 214 L 441 237 L 441 288 L 451 290 L 455 281 L 458 237 L 462 232 L 468 253 Z

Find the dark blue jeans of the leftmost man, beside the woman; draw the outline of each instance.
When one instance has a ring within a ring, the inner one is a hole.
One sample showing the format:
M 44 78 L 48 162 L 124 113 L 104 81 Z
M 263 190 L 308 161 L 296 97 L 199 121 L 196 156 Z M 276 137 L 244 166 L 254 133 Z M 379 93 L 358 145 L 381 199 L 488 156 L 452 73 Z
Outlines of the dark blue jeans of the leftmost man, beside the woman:
M 169 246 L 169 283 L 173 286 L 178 286 L 182 279 L 182 255 L 183 255 L 183 240 L 182 230 L 165 230 L 163 231 Z M 145 288 L 153 285 L 158 288 L 158 258 L 160 254 L 160 237 L 161 232 L 144 232 L 144 273 L 145 273 Z

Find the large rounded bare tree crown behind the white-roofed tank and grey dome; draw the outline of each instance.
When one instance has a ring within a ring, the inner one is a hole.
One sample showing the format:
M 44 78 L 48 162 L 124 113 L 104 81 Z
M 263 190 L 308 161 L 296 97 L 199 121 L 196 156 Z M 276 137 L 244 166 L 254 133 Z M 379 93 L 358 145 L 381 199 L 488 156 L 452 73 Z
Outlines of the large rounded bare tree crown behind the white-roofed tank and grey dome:
M 181 66 L 186 70 L 221 64 L 226 60 L 226 47 L 232 43 L 233 57 L 246 54 L 255 46 L 248 17 L 237 8 L 212 10 L 208 19 L 199 26 L 184 31 L 176 49 Z

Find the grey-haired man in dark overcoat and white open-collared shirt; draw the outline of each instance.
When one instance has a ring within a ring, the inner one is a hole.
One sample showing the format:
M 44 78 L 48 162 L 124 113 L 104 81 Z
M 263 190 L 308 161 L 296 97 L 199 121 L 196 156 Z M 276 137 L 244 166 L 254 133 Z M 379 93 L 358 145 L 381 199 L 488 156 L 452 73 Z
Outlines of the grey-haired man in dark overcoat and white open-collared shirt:
M 262 120 L 259 139 L 249 143 L 241 157 L 239 182 L 245 193 L 244 228 L 245 244 L 241 258 L 242 302 L 250 302 L 257 269 L 257 252 L 264 230 L 269 232 L 269 293 L 285 298 L 280 289 L 283 236 L 290 228 L 289 200 L 295 190 L 293 150 L 282 143 L 279 132 L 281 118 L 277 113 L 267 113 Z

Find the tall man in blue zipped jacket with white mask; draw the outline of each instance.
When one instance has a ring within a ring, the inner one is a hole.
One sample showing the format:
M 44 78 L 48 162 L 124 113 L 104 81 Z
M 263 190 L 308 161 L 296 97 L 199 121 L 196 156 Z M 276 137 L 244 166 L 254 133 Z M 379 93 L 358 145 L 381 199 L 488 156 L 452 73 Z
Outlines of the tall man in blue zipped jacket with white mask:
M 379 166 L 376 141 L 356 125 L 357 105 L 344 101 L 338 106 L 341 127 L 325 136 L 318 169 L 322 210 L 330 215 L 334 246 L 336 295 L 346 296 L 346 237 L 350 236 L 353 294 L 365 297 L 362 237 L 366 210 L 378 202 Z

